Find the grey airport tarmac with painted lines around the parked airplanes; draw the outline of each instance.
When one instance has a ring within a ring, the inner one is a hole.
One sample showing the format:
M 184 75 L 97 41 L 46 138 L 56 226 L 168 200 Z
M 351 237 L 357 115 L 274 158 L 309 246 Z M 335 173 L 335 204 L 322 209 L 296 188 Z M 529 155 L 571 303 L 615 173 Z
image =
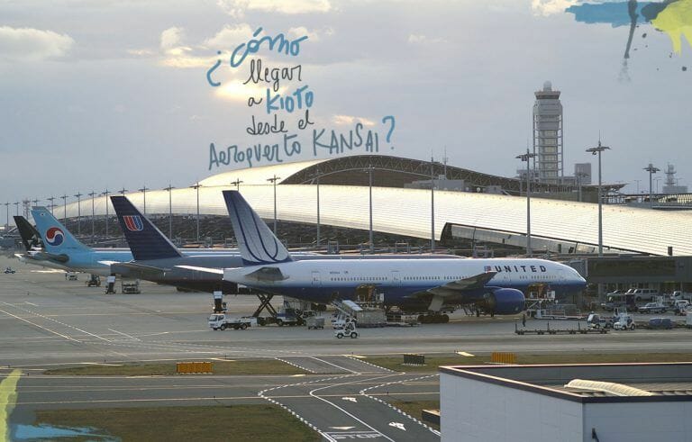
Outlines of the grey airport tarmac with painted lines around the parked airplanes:
M 319 430 L 326 439 L 437 440 L 417 419 L 387 405 L 392 399 L 437 400 L 437 374 L 394 373 L 355 356 L 465 351 L 683 352 L 692 331 L 634 330 L 607 335 L 517 336 L 517 318 L 452 315 L 449 324 L 360 329 L 337 339 L 332 329 L 252 327 L 214 331 L 206 319 L 210 293 L 178 293 L 150 283 L 141 294 L 105 294 L 87 287 L 87 275 L 64 273 L 0 258 L 0 377 L 19 367 L 15 414 L 46 408 L 176 406 L 272 401 Z M 232 313 L 250 314 L 253 296 L 227 296 Z M 278 302 L 275 303 L 278 305 Z M 545 328 L 529 320 L 527 328 Z M 582 327 L 585 324 L 582 323 Z M 575 321 L 551 327 L 576 328 Z M 278 358 L 311 374 L 278 376 L 50 376 L 45 368 L 197 358 Z M 24 413 L 24 414 L 23 414 Z

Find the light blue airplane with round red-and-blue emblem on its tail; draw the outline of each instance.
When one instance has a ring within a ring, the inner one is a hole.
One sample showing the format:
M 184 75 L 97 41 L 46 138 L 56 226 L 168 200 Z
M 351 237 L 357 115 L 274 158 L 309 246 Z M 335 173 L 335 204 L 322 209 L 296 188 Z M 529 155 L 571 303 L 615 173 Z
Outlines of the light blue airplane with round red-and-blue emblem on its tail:
M 27 263 L 40 266 L 54 266 L 68 271 L 85 272 L 94 275 L 111 275 L 111 265 L 114 263 L 127 263 L 132 261 L 130 248 L 90 248 L 79 239 L 75 238 L 69 230 L 58 221 L 45 207 L 34 207 L 32 217 L 36 222 L 36 229 L 41 234 L 45 252 L 27 251 L 28 257 L 35 254 L 41 260 L 26 259 Z M 129 228 L 142 230 L 144 224 L 139 217 L 132 217 Z M 191 248 L 179 249 L 183 256 L 189 255 L 234 255 L 238 256 L 236 249 L 209 249 Z M 40 255 L 39 255 L 40 254 Z

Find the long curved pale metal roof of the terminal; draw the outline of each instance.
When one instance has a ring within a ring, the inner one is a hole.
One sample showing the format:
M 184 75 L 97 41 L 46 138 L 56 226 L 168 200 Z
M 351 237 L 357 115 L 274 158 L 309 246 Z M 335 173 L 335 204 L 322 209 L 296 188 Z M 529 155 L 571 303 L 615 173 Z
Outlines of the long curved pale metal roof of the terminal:
M 304 174 L 305 167 L 326 167 L 332 160 L 309 161 L 292 165 L 258 167 L 212 176 L 200 182 L 201 214 L 226 215 L 222 190 L 235 190 L 229 183 L 235 179 L 249 183 L 240 185 L 241 194 L 265 219 L 273 218 L 273 185 L 266 180 L 281 176 L 284 183 Z M 302 167 L 302 168 L 301 168 Z M 294 173 L 292 176 L 291 173 Z M 266 175 L 265 175 L 266 174 Z M 279 175 L 281 174 L 281 175 Z M 358 172 L 368 179 L 368 174 Z M 361 178 L 362 178 L 361 176 Z M 360 178 L 359 178 L 360 179 Z M 206 183 L 206 184 L 205 184 Z M 352 229 L 369 229 L 368 185 L 321 184 L 320 218 L 326 225 Z M 196 189 L 173 189 L 172 212 L 196 213 Z M 132 203 L 143 207 L 141 193 L 126 194 Z M 168 191 L 149 191 L 147 212 L 168 214 Z M 316 185 L 281 184 L 277 186 L 278 219 L 316 223 Z M 431 191 L 374 185 L 373 229 L 377 231 L 430 238 Z M 460 236 L 504 244 L 524 245 L 526 234 L 526 199 L 505 194 L 435 191 L 435 236 L 451 227 Z M 82 213 L 90 214 L 91 202 L 82 200 Z M 105 197 L 95 199 L 97 215 L 105 214 Z M 113 206 L 108 211 L 113 214 Z M 63 208 L 57 207 L 60 217 Z M 77 203 L 67 206 L 68 217 L 77 216 Z M 532 239 L 534 250 L 542 244 L 560 244 L 561 251 L 596 251 L 597 205 L 532 197 Z M 692 213 L 660 212 L 620 205 L 603 206 L 603 241 L 605 250 L 666 255 L 672 246 L 675 255 L 692 255 Z M 524 242 L 517 242 L 521 239 Z

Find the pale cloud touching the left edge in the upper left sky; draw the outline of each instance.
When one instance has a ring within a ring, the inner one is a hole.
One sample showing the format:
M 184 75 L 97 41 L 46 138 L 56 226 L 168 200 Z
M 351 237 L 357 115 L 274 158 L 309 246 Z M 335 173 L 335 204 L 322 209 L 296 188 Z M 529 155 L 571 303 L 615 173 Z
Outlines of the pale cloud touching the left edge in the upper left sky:
M 63 57 L 75 41 L 68 34 L 0 26 L 0 59 L 41 60 Z

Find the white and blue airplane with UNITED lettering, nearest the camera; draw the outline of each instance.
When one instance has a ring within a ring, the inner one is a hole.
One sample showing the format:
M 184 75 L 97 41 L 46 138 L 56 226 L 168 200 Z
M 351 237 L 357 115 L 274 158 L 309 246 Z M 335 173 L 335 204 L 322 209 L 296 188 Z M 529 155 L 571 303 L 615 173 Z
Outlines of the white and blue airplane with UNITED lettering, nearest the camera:
M 223 191 L 223 198 L 244 263 L 224 268 L 223 279 L 266 293 L 329 303 L 354 300 L 370 288 L 384 295 L 386 306 L 439 312 L 444 305 L 472 305 L 495 315 L 524 311 L 523 291 L 531 284 L 550 284 L 556 294 L 586 286 L 575 269 L 535 258 L 297 261 L 241 194 Z

